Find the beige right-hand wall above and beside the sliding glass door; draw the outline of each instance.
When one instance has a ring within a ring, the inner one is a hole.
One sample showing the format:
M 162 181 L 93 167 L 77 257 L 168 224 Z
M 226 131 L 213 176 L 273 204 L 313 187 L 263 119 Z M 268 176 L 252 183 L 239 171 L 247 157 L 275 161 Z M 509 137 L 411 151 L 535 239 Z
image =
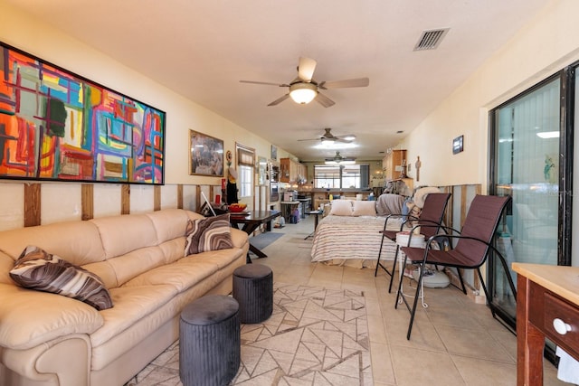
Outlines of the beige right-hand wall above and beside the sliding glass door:
M 579 2 L 552 1 L 413 129 L 403 147 L 411 163 L 420 156 L 420 184 L 483 184 L 487 191 L 489 109 L 579 59 L 577 14 Z M 452 139 L 461 135 L 464 152 L 452 155 Z

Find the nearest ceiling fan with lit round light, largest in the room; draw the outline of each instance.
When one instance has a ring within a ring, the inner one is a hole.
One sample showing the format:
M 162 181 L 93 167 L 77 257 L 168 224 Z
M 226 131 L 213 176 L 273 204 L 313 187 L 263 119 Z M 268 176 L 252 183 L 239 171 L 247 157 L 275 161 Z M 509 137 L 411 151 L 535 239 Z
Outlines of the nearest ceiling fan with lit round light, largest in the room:
M 298 77 L 291 80 L 289 83 L 271 83 L 266 81 L 240 80 L 242 83 L 264 84 L 268 86 L 287 87 L 288 93 L 282 97 L 275 99 L 268 106 L 275 106 L 291 97 L 296 103 L 301 105 L 308 104 L 313 99 L 316 99 L 320 105 L 325 108 L 334 106 L 336 102 L 327 98 L 324 94 L 319 92 L 319 89 L 342 89 L 346 87 L 366 87 L 370 84 L 368 78 L 356 78 L 348 80 L 333 80 L 318 82 L 313 79 L 314 71 L 318 63 L 313 59 L 299 58 Z

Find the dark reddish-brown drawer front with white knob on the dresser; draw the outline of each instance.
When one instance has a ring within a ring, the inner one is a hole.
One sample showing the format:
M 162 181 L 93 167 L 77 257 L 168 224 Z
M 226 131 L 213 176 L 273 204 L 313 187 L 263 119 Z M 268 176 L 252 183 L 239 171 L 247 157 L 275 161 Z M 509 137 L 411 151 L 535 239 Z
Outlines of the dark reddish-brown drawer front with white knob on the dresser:
M 555 342 L 563 344 L 579 353 L 579 309 L 555 297 L 548 292 L 544 293 L 545 317 L 543 319 L 543 329 L 546 334 Z M 555 330 L 553 321 L 561 320 L 565 323 L 569 331 L 560 334 Z

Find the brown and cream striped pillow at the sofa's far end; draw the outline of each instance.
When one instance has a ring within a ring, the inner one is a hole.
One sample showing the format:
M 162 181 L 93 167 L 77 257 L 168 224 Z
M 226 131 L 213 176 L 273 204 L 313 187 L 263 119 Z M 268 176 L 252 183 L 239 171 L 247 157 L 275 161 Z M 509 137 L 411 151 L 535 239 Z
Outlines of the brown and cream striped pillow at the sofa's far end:
M 231 248 L 233 241 L 229 213 L 191 221 L 185 243 L 185 256 Z

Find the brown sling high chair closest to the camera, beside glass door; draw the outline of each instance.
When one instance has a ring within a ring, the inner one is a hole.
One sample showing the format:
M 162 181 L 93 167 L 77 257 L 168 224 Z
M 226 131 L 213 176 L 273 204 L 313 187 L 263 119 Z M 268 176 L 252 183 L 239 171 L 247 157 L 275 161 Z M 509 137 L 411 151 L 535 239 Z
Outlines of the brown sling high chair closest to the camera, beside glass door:
M 430 195 L 429 195 L 430 196 Z M 424 270 L 427 265 L 457 268 L 458 276 L 460 278 L 460 285 L 462 292 L 467 293 L 464 286 L 464 279 L 462 278 L 460 269 L 470 268 L 476 269 L 480 279 L 480 285 L 485 292 L 487 301 L 489 302 L 490 311 L 493 317 L 496 317 L 494 308 L 491 306 L 491 298 L 484 279 L 480 273 L 480 266 L 482 266 L 487 258 L 497 257 L 504 268 L 508 272 L 508 266 L 505 258 L 500 254 L 498 249 L 492 245 L 492 240 L 497 233 L 498 223 L 505 211 L 508 203 L 511 201 L 510 196 L 494 196 L 494 195 L 480 195 L 477 194 L 470 203 L 469 212 L 464 220 L 461 231 L 452 230 L 450 227 L 441 226 L 446 232 L 444 238 L 455 243 L 454 248 L 448 250 L 438 249 L 436 246 L 437 237 L 440 235 L 433 235 L 426 241 L 426 247 L 413 248 L 401 247 L 404 253 L 403 267 L 407 263 L 417 265 L 419 268 L 419 275 L 416 286 L 416 296 L 411 307 L 401 291 L 402 280 L 398 285 L 396 292 L 396 303 L 394 308 L 398 307 L 399 301 L 403 301 L 410 311 L 410 323 L 408 325 L 408 332 L 406 339 L 410 340 L 410 334 L 413 329 L 414 315 L 416 314 L 416 306 L 418 304 L 418 296 L 422 284 Z M 492 251 L 493 253 L 490 253 Z M 508 285 L 514 297 L 517 297 L 517 291 L 510 275 L 507 274 Z M 455 286 L 456 287 L 456 286 Z

